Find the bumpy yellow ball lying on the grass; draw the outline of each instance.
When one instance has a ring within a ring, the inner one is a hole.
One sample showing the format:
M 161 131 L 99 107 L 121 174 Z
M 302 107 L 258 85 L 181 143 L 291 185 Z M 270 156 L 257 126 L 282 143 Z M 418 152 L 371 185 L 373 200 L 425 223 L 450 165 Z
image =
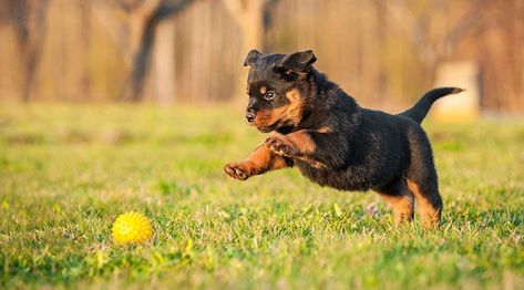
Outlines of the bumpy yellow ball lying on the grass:
M 129 211 L 120 215 L 111 229 L 113 240 L 119 245 L 141 244 L 151 239 L 151 221 L 142 214 Z

